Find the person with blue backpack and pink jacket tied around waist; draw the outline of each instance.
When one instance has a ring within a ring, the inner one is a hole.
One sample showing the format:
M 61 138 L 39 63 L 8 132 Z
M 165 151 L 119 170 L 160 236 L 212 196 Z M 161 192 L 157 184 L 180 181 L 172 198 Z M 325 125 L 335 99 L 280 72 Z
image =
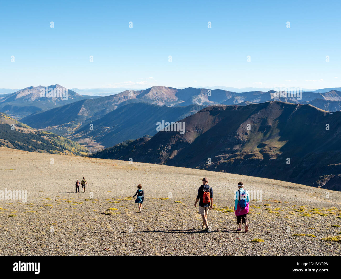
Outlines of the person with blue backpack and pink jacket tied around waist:
M 237 217 L 237 224 L 239 228 L 237 231 L 241 231 L 241 224 L 245 223 L 245 232 L 248 232 L 248 213 L 249 213 L 249 193 L 244 190 L 244 183 L 238 183 L 238 189 L 235 196 L 235 215 Z

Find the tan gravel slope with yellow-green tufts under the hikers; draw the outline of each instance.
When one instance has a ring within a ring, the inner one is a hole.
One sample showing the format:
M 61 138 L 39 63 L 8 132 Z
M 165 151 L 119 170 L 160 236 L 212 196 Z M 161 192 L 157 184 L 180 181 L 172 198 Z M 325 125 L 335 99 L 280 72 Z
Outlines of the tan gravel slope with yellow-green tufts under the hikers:
M 51 164 L 51 158 L 54 164 Z M 85 176 L 86 193 L 75 193 Z M 213 188 L 211 232 L 194 207 L 203 177 Z M 339 255 L 341 193 L 272 179 L 0 147 L 1 255 Z M 237 232 L 234 191 L 253 193 L 249 232 Z M 146 201 L 134 204 L 137 184 Z M 258 191 L 258 195 L 256 194 Z M 115 208 L 113 210 L 107 210 Z M 306 234 L 295 236 L 295 234 Z M 308 234 L 308 235 L 307 235 Z M 262 239 L 264 242 L 252 242 Z M 338 238 L 334 238 L 337 240 Z

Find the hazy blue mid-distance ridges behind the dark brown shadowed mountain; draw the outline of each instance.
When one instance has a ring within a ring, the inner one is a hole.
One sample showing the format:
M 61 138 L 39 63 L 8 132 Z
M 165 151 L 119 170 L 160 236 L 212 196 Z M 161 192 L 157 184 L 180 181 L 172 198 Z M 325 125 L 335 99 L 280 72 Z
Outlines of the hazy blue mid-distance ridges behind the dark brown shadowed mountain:
M 329 92 L 302 92 L 300 98 L 297 96 L 286 96 L 285 92 L 276 92 L 270 90 L 268 92 L 252 91 L 237 93 L 226 91 L 222 89 L 203 89 L 203 88 L 184 88 L 177 89 L 173 87 L 151 87 L 145 90 L 126 90 L 121 93 L 100 97 L 96 99 L 81 99 L 63 106 L 54 107 L 43 112 L 35 112 L 21 119 L 21 121 L 36 129 L 44 129 L 54 132 L 56 134 L 73 138 L 74 140 L 81 141 L 87 139 L 87 142 L 96 143 L 94 146 L 88 147 L 95 151 L 96 148 L 110 147 L 119 141 L 136 139 L 142 135 L 154 135 L 156 132 L 151 128 L 151 121 L 160 121 L 162 118 L 162 110 L 167 112 L 167 118 L 171 121 L 176 121 L 181 115 L 176 112 L 180 110 L 167 109 L 167 107 L 187 107 L 182 111 L 182 116 L 188 116 L 191 111 L 195 113 L 204 106 L 209 105 L 248 105 L 251 103 L 263 103 L 267 101 L 283 101 L 290 103 L 312 103 L 314 106 L 322 108 L 327 111 L 336 111 L 340 108 L 341 92 L 332 90 Z M 118 112 L 116 109 L 129 105 L 136 104 L 135 106 L 128 106 Z M 152 104 L 154 106 L 148 106 Z M 0 103 L 1 105 L 1 103 Z M 202 106 L 198 109 L 193 109 L 188 106 L 198 105 Z M 140 107 L 139 107 L 140 106 Z M 160 108 L 158 106 L 164 106 Z M 132 112 L 129 108 L 135 108 Z M 144 112 L 149 109 L 149 114 Z M 27 107 L 29 109 L 29 107 Z M 21 108 L 24 112 L 24 109 Z M 118 115 L 122 112 L 123 115 Z M 172 115 L 174 112 L 174 115 Z M 110 114 L 109 114 L 110 113 Z M 158 120 L 157 118 L 160 117 Z M 123 123 L 128 120 L 120 120 L 118 123 L 113 119 L 137 119 L 137 123 L 148 123 L 141 125 L 138 133 L 133 136 L 136 130 L 130 129 L 129 125 L 124 127 Z M 155 122 L 155 123 L 156 123 Z M 89 130 L 89 125 L 93 124 L 95 132 Z

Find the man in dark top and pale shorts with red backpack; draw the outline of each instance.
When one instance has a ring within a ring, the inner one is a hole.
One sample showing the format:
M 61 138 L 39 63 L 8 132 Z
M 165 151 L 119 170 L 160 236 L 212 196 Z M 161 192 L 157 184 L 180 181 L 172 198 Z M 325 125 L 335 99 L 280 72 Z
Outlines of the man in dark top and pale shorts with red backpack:
M 203 184 L 198 189 L 198 194 L 197 194 L 195 204 L 194 204 L 194 206 L 196 207 L 197 202 L 200 201 L 199 202 L 199 214 L 201 214 L 201 216 L 203 217 L 203 224 L 201 228 L 205 231 L 209 229 L 208 220 L 207 220 L 208 210 L 212 209 L 212 205 L 213 205 L 213 189 L 207 184 L 207 182 L 208 182 L 207 178 L 204 177 Z

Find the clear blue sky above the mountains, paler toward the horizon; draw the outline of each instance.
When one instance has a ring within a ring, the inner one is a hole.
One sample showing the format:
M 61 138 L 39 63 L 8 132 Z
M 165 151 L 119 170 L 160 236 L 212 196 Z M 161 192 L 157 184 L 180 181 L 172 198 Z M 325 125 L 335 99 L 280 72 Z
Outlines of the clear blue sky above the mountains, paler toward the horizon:
M 1 1 L 0 88 L 340 87 L 340 11 L 340 1 Z

